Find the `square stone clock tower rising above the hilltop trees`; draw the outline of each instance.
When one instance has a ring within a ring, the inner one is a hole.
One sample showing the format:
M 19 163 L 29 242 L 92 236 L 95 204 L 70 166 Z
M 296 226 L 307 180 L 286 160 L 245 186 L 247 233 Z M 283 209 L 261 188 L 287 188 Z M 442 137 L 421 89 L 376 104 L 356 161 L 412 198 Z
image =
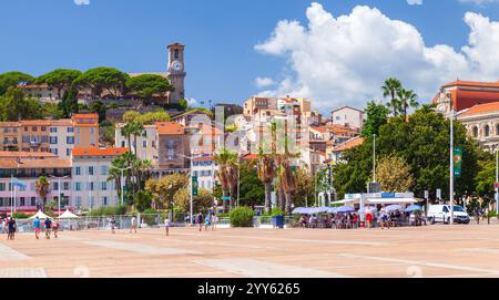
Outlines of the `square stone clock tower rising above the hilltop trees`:
M 185 64 L 184 64 L 184 49 L 181 43 L 173 43 L 169 45 L 169 80 L 172 86 L 175 89 L 170 92 L 169 103 L 180 103 L 185 97 Z

